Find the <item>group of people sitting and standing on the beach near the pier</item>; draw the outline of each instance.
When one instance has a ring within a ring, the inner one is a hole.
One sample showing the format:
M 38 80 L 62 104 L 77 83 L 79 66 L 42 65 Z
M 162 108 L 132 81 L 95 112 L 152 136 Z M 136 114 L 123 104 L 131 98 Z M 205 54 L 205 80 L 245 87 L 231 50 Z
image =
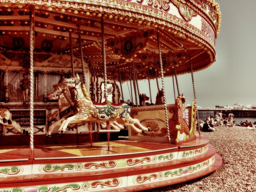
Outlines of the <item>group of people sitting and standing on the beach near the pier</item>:
M 230 111 L 228 118 L 224 118 L 225 114 L 222 114 L 222 111 L 219 111 L 218 114 L 213 118 L 213 115 L 210 115 L 207 119 L 199 121 L 199 128 L 203 132 L 213 132 L 217 131 L 217 127 L 233 127 L 233 126 L 242 126 L 247 127 L 248 129 L 256 129 L 256 121 L 246 120 L 245 122 L 241 121 L 240 124 L 233 121 L 234 114 Z

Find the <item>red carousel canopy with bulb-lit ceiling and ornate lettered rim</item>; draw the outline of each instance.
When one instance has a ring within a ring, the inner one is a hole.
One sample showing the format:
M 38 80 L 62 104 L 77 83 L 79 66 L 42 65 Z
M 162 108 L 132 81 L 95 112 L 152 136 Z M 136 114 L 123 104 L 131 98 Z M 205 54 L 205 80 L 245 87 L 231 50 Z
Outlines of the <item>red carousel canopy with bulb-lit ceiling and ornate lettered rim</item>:
M 160 47 L 164 76 L 184 74 L 214 62 L 220 18 L 214 0 L 0 0 L 0 58 L 28 68 L 32 28 L 42 66 L 52 55 L 82 55 L 103 76 L 106 55 L 109 79 L 129 80 L 131 66 L 138 80 L 155 78 Z

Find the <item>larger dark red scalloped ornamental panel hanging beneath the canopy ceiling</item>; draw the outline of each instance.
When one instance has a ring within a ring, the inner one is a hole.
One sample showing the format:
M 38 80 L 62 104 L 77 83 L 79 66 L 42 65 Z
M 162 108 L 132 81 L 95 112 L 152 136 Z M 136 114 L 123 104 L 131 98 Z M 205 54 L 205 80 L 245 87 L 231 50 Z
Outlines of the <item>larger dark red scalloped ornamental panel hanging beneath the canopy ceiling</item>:
M 131 58 L 135 52 L 143 49 L 154 30 L 144 31 L 135 36 L 120 38 L 119 40 L 111 41 L 108 46 L 112 47 L 115 54 L 122 54 L 125 58 Z

